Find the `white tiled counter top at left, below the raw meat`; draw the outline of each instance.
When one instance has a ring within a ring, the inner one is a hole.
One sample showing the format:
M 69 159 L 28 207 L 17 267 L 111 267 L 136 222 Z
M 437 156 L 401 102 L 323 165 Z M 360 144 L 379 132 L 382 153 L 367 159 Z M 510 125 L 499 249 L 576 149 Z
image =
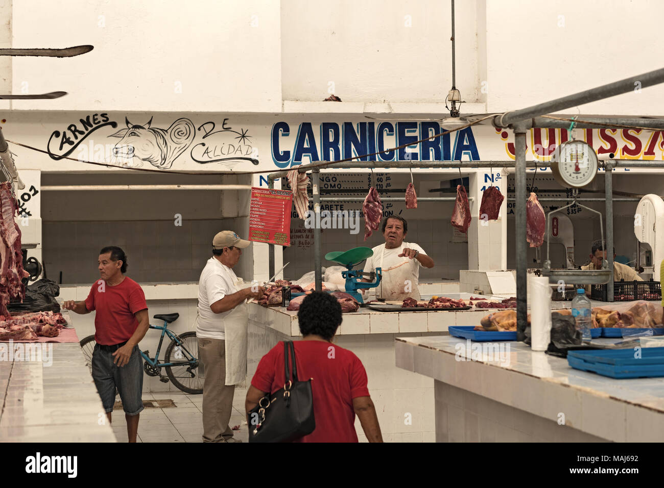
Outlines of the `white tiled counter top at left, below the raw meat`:
M 80 345 L 29 345 L 46 348 L 0 361 L 0 441 L 116 442 Z

